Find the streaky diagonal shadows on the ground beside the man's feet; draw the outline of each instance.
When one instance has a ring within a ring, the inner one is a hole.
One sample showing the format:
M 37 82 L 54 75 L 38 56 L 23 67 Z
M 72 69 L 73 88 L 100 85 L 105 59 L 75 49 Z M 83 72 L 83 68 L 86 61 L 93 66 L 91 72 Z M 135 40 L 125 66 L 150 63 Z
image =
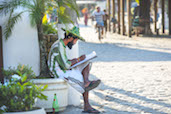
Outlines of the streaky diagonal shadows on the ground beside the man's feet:
M 91 77 L 91 79 L 97 79 L 97 77 L 94 75 L 90 75 L 90 77 Z M 103 91 L 104 90 L 110 90 L 111 92 L 109 92 L 109 93 L 119 93 L 119 94 L 126 95 L 128 97 L 132 97 L 132 98 L 135 98 L 135 99 L 138 99 L 141 101 L 145 101 L 147 103 L 156 104 L 156 105 L 160 105 L 162 107 L 171 108 L 171 104 L 160 102 L 160 101 L 157 101 L 154 99 L 149 99 L 145 96 L 140 96 L 138 94 L 132 93 L 130 91 L 126 91 L 124 89 L 119 89 L 119 88 L 107 86 L 103 83 L 103 81 L 101 82 L 100 86 L 97 89 L 101 90 L 102 92 L 99 92 L 99 91 L 93 91 L 93 92 L 97 97 L 99 97 L 101 99 L 105 99 L 106 101 L 109 101 L 109 102 L 115 102 L 115 103 L 120 104 L 120 105 L 129 106 L 129 107 L 141 110 L 141 111 L 146 112 L 146 113 L 154 113 L 154 114 L 161 114 L 162 113 L 162 114 L 165 114 L 165 112 L 158 111 L 157 109 L 153 109 L 153 108 L 150 108 L 147 106 L 142 106 L 142 105 L 137 104 L 137 103 L 132 103 L 132 102 L 128 102 L 126 100 L 121 100 L 121 99 L 115 98 L 114 96 L 112 96 L 112 94 L 104 95 Z M 97 105 L 97 103 L 95 103 L 94 101 L 91 101 L 91 103 L 93 105 Z M 107 110 L 112 110 L 112 111 L 117 112 L 117 113 L 134 113 L 134 112 L 119 111 L 117 109 L 113 109 L 113 108 L 110 108 L 107 106 L 103 106 L 102 108 L 107 109 Z

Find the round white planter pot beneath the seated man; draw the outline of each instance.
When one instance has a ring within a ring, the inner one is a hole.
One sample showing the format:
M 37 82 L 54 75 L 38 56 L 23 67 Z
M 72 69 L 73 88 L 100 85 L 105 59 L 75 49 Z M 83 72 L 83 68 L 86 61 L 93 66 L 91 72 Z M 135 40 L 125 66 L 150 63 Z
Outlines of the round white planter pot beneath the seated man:
M 34 79 L 36 85 L 48 85 L 48 88 L 43 92 L 48 96 L 48 100 L 37 99 L 35 106 L 45 108 L 46 112 L 52 112 L 52 104 L 54 94 L 56 94 L 59 104 L 59 110 L 65 110 L 68 105 L 68 85 L 62 79 Z

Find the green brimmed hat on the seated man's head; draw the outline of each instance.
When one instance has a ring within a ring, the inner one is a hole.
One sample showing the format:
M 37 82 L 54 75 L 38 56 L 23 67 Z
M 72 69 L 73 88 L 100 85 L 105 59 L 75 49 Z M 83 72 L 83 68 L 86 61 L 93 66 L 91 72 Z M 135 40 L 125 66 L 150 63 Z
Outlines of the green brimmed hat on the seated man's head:
M 80 36 L 80 31 L 79 31 L 79 28 L 74 26 L 72 29 L 70 30 L 67 30 L 67 29 L 64 29 L 62 28 L 63 31 L 65 31 L 67 34 L 71 33 L 73 34 L 74 36 L 76 36 L 78 39 L 82 40 L 82 41 L 85 41 L 85 39 L 83 37 Z

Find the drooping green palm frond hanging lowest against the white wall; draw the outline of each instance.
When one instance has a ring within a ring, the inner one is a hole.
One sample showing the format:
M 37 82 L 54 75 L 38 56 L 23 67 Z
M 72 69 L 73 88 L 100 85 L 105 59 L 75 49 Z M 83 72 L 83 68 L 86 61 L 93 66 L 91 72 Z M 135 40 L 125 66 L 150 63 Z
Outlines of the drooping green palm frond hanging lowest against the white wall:
M 14 25 L 17 23 L 17 21 L 21 18 L 21 14 L 23 12 L 20 12 L 18 14 L 14 14 L 13 15 L 13 11 L 10 13 L 10 17 L 8 19 L 8 23 L 5 27 L 5 31 L 4 31 L 4 34 L 5 34 L 5 39 L 7 40 L 8 37 L 12 34 L 12 30 L 14 28 Z

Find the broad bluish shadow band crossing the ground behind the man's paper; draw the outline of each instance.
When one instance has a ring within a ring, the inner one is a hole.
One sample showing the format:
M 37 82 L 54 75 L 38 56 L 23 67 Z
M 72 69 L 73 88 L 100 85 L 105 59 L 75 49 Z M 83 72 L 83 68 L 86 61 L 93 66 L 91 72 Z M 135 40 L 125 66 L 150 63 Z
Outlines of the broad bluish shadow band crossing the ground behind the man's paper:
M 90 43 L 79 42 L 80 54 L 88 54 L 92 51 L 97 53 L 97 59 L 94 61 L 103 62 L 130 62 L 130 61 L 171 61 L 171 53 L 150 51 L 147 49 L 129 48 L 130 44 L 121 43 Z M 151 47 L 151 49 L 155 49 Z M 167 48 L 166 50 L 171 51 Z

